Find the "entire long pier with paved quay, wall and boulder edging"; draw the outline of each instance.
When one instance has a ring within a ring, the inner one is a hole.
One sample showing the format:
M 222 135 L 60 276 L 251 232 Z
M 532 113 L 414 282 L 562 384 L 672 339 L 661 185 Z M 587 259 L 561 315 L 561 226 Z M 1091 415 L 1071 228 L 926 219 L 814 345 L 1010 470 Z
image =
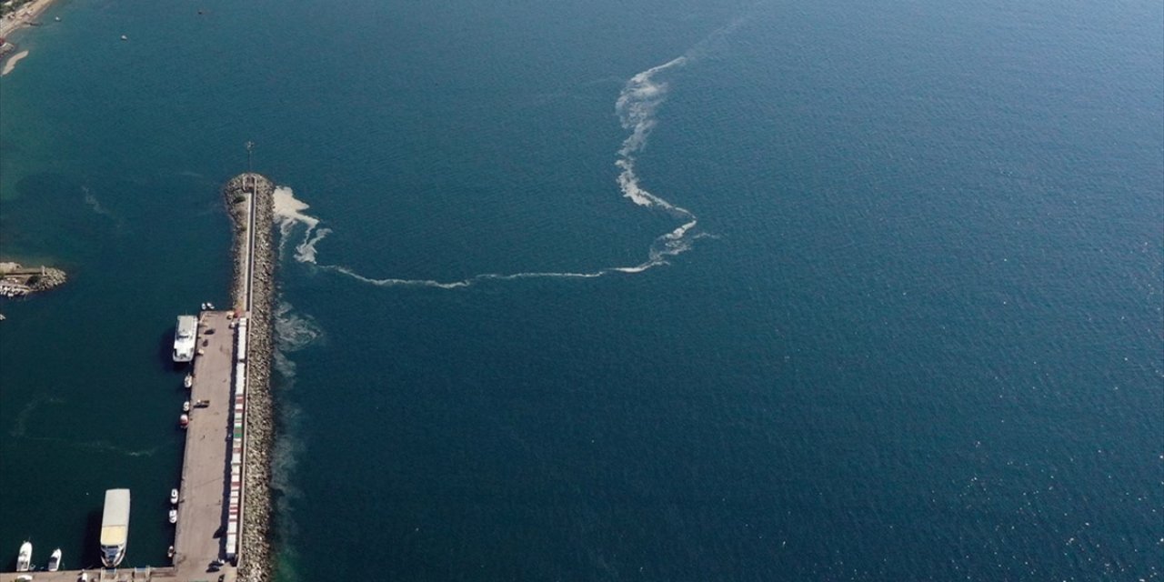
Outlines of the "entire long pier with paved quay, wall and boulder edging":
M 0 573 L 0 582 L 76 582 L 83 575 L 90 582 L 271 579 L 274 191 L 257 173 L 236 176 L 222 190 L 234 227 L 234 310 L 203 310 L 198 317 L 172 565 Z M 64 558 L 66 565 L 92 561 Z M 133 547 L 126 562 L 133 562 Z

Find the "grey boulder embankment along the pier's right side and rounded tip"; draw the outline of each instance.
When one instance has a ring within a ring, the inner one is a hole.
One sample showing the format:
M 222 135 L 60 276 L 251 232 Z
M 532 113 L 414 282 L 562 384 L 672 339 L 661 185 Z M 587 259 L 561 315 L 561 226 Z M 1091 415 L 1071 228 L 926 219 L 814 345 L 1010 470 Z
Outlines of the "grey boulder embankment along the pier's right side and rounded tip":
M 272 234 L 272 196 L 275 184 L 257 173 L 232 178 L 222 189 L 227 211 L 234 226 L 233 298 L 236 311 L 246 306 L 246 249 L 249 179 L 255 180 L 255 265 L 254 290 L 248 327 L 248 382 L 246 416 L 246 453 L 243 457 L 242 532 L 239 540 L 239 579 L 244 582 L 271 580 L 271 449 L 275 438 L 275 414 L 271 410 L 271 356 L 274 325 L 271 306 L 275 297 L 275 253 Z

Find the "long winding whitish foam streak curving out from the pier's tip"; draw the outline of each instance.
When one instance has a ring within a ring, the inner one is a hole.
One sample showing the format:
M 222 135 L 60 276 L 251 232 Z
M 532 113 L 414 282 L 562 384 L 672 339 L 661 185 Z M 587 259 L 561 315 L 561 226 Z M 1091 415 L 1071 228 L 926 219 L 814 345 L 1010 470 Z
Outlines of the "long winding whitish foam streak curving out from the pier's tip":
M 615 161 L 615 166 L 619 170 L 617 178 L 619 191 L 623 193 L 624 198 L 630 199 L 640 207 L 663 212 L 673 219 L 682 221 L 679 227 L 659 235 L 651 242 L 651 246 L 647 248 L 647 256 L 641 263 L 634 265 L 608 267 L 589 272 L 485 272 L 460 281 L 368 277 L 349 267 L 317 263 L 315 260 L 318 251 L 315 247 L 324 240 L 325 236 L 327 236 L 328 233 L 331 233 L 331 229 L 319 228 L 319 219 L 304 213 L 304 211 L 308 208 L 307 204 L 301 200 L 297 200 L 292 194 L 291 189 L 284 186 L 275 189 L 275 215 L 276 220 L 279 222 L 279 232 L 283 235 L 279 241 L 279 256 L 283 256 L 283 246 L 291 232 L 294 229 L 296 225 L 304 225 L 306 227 L 306 232 L 304 233 L 303 240 L 296 244 L 294 248 L 296 261 L 300 263 L 311 263 L 320 269 L 346 275 L 362 283 L 377 286 L 462 289 L 476 283 L 490 281 L 517 281 L 530 278 L 595 278 L 611 274 L 634 275 L 659 265 L 668 264 L 668 260 L 670 257 L 687 253 L 691 249 L 691 246 L 696 240 L 710 235 L 698 230 L 698 219 L 693 212 L 681 206 L 676 206 L 643 187 L 639 176 L 634 171 L 636 156 L 646 148 L 651 137 L 651 132 L 654 130 L 658 125 L 656 113 L 667 100 L 667 93 L 670 90 L 670 86 L 665 79 L 666 74 L 676 69 L 684 68 L 693 61 L 698 59 L 702 55 L 708 52 L 712 43 L 733 31 L 744 22 L 744 20 L 745 19 L 743 16 L 736 19 L 729 24 L 711 33 L 711 35 L 703 41 L 700 41 L 698 44 L 693 47 L 684 55 L 661 65 L 652 66 L 651 69 L 631 77 L 630 80 L 627 80 L 623 86 L 623 90 L 618 94 L 618 99 L 615 101 L 615 112 L 618 114 L 619 122 L 623 128 L 629 132 L 626 139 L 623 140 L 623 143 L 618 149 L 618 157 Z

